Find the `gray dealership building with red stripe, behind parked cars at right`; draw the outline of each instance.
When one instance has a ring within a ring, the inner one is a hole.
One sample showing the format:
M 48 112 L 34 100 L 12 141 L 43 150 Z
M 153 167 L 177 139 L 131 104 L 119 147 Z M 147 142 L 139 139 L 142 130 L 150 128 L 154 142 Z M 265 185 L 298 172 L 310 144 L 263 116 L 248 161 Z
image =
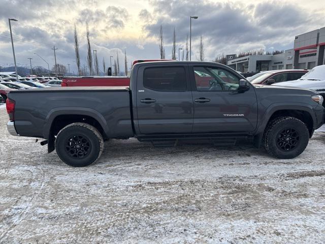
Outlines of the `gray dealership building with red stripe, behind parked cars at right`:
M 325 27 L 295 37 L 293 49 L 275 55 L 226 55 L 227 65 L 240 72 L 312 69 L 324 65 Z

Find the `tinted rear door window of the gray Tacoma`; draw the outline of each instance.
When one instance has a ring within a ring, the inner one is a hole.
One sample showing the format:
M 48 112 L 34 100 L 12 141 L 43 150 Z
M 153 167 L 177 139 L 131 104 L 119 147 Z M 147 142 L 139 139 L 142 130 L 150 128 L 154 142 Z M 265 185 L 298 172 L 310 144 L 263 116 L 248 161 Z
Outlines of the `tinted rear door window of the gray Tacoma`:
M 143 74 L 143 85 L 161 92 L 185 91 L 185 69 L 183 67 L 147 68 Z

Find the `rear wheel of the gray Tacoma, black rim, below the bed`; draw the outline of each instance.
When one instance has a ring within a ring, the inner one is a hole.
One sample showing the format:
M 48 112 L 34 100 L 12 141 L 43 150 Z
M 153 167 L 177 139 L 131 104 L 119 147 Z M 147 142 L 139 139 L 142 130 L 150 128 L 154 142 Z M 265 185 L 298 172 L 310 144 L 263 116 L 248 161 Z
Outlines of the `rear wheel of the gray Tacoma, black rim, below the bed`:
M 84 167 L 97 161 L 104 149 L 101 133 L 85 123 L 73 123 L 59 131 L 55 139 L 58 157 L 72 167 Z

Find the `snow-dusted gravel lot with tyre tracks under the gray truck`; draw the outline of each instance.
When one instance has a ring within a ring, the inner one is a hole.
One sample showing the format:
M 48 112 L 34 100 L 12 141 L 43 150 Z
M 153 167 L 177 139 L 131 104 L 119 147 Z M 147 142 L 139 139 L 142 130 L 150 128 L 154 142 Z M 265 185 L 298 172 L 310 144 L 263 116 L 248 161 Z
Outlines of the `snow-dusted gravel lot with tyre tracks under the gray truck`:
M 0 105 L 1 106 L 1 105 Z M 105 144 L 86 168 L 8 134 L 0 107 L 0 243 L 323 243 L 325 130 L 276 160 L 252 146 Z

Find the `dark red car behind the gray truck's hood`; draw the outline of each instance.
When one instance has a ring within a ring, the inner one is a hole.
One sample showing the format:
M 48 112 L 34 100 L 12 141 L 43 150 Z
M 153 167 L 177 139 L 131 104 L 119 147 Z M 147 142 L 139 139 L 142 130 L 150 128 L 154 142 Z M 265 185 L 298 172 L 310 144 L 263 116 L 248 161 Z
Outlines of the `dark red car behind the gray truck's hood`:
M 263 72 L 262 75 L 250 80 L 250 82 L 252 84 L 271 85 L 288 80 L 297 80 L 307 72 L 308 70 L 272 70 Z

